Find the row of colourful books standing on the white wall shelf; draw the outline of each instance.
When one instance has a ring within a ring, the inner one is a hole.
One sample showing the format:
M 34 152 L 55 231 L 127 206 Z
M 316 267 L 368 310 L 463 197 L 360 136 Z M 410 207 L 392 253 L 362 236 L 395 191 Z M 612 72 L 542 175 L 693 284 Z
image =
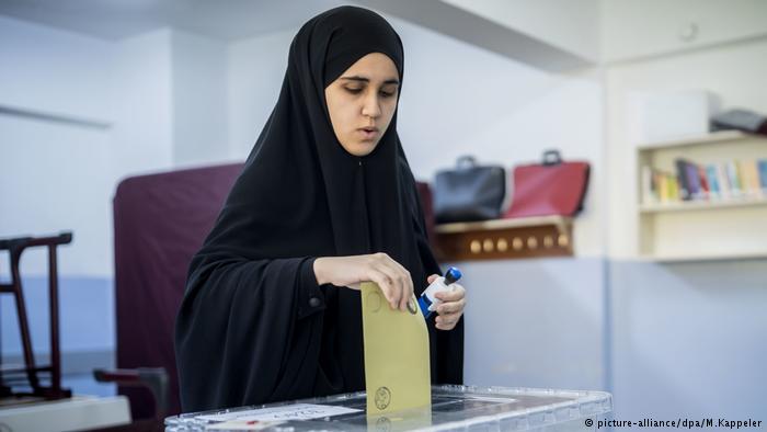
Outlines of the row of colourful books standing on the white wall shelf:
M 674 168 L 676 172 L 672 173 L 642 167 L 642 203 L 767 197 L 767 159 L 698 164 L 678 158 Z

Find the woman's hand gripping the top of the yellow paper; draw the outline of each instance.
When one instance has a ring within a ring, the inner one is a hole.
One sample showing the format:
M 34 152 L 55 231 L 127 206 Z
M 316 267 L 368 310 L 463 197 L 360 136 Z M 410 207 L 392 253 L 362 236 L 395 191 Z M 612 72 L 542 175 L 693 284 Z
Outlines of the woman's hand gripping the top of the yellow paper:
M 413 296 L 410 272 L 384 252 L 368 255 L 320 257 L 314 260 L 317 283 L 359 289 L 362 282 L 375 282 L 392 309 L 407 310 Z

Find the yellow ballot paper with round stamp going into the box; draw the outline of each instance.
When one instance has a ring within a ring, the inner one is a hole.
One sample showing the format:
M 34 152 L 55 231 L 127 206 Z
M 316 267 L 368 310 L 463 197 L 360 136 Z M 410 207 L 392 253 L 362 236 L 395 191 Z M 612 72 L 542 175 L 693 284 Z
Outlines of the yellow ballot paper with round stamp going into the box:
M 368 416 L 431 406 L 428 331 L 415 297 L 402 311 L 377 284 L 360 289 Z

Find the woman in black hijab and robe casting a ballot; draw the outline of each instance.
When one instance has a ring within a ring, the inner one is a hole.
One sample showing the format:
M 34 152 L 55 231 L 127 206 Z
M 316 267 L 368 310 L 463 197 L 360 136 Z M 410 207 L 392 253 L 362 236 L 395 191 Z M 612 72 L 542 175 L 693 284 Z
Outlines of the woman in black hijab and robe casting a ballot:
M 359 283 L 405 310 L 440 273 L 397 136 L 402 67 L 399 36 L 365 9 L 324 12 L 294 38 L 277 104 L 190 266 L 184 411 L 364 389 Z M 463 288 L 443 299 L 432 380 L 460 384 Z

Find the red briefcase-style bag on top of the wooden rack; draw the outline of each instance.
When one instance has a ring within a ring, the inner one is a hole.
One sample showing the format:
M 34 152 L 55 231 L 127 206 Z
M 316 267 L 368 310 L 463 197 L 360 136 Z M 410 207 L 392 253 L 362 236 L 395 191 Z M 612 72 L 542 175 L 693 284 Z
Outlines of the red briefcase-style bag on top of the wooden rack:
M 558 150 L 543 152 L 542 163 L 515 167 L 504 217 L 574 216 L 583 208 L 588 171 L 588 162 L 563 162 Z

